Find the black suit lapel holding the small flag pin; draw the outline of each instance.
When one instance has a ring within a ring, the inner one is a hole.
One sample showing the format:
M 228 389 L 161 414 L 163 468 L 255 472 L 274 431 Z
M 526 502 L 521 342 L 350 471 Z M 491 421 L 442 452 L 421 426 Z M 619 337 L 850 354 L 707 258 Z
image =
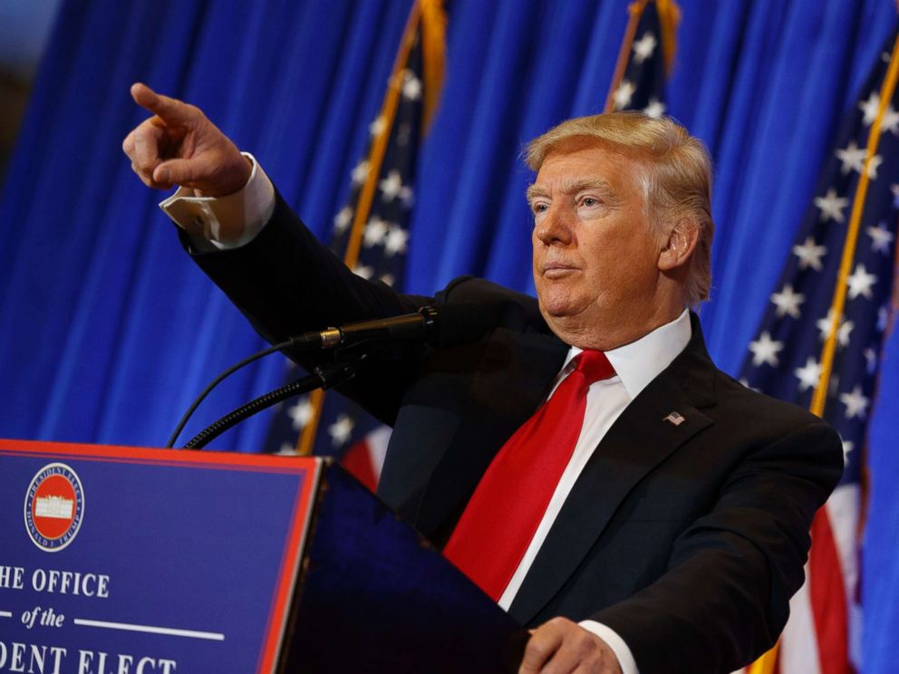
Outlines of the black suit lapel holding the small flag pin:
M 577 478 L 509 608 L 513 617 L 531 621 L 575 573 L 634 486 L 712 423 L 701 409 L 715 402 L 716 372 L 694 320 L 690 344 L 624 409 Z M 673 411 L 681 423 L 665 419 Z

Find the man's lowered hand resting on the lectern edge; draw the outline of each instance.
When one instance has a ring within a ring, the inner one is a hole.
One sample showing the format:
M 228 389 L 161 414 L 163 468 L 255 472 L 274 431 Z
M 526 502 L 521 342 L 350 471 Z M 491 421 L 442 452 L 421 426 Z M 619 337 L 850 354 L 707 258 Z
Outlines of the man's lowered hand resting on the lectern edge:
M 531 631 L 518 674 L 575 671 L 621 674 L 621 666 L 604 640 L 565 618 L 553 618 Z

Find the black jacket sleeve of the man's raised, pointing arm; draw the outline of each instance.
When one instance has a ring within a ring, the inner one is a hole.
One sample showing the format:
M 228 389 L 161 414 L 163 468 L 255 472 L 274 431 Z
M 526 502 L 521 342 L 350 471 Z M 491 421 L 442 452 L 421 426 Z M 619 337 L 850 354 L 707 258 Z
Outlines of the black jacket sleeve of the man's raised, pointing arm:
M 197 265 L 268 342 L 283 342 L 291 335 L 345 323 L 413 313 L 433 303 L 431 298 L 398 294 L 385 284 L 353 274 L 277 193 L 272 218 L 246 246 L 199 253 L 180 228 L 179 236 Z M 327 351 L 291 351 L 287 355 L 307 370 L 334 357 Z M 419 358 L 415 346 L 376 352 L 340 391 L 392 425 Z

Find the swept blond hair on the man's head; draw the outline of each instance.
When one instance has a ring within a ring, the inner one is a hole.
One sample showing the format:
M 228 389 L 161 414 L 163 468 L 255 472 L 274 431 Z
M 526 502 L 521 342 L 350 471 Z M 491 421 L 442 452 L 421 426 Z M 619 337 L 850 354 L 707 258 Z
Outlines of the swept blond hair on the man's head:
M 711 159 L 701 140 L 667 117 L 642 112 L 611 112 L 563 121 L 532 140 L 525 150 L 527 166 L 540 169 L 546 156 L 574 139 L 595 139 L 615 146 L 636 159 L 642 171 L 643 194 L 649 220 L 660 236 L 666 223 L 684 223 L 698 232 L 684 288 L 687 303 L 709 299 L 711 287 Z

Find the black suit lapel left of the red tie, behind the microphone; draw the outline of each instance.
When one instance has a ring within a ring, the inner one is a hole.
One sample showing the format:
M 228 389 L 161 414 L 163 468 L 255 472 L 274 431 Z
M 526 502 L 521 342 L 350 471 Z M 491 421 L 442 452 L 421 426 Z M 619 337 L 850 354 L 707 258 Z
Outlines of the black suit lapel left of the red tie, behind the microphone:
M 549 393 L 568 347 L 555 336 L 498 330 L 472 378 L 459 428 L 421 498 L 416 528 L 444 544 L 499 448 Z

